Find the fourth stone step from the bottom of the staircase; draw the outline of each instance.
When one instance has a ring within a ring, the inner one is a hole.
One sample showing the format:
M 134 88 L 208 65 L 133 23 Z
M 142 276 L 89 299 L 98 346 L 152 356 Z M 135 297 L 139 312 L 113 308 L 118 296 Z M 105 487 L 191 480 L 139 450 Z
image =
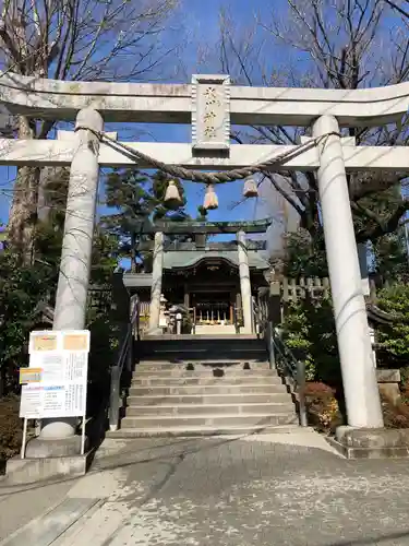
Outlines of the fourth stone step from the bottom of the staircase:
M 156 406 L 156 405 L 172 405 L 172 404 L 269 404 L 269 403 L 289 403 L 292 397 L 288 392 L 272 393 L 260 392 L 258 394 L 188 394 L 188 395 L 159 395 L 159 396 L 128 396 L 127 403 L 129 406 Z

